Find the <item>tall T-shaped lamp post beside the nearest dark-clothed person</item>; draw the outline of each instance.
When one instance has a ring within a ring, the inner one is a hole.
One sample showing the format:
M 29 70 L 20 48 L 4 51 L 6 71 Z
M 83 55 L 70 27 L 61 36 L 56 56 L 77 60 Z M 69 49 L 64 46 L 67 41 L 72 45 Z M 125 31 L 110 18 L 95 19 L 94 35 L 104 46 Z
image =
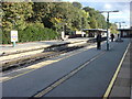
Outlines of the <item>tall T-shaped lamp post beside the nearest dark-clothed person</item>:
M 109 51 L 109 14 L 110 12 L 119 12 L 118 10 L 114 11 L 100 11 L 100 13 L 108 13 L 107 16 L 107 51 Z

